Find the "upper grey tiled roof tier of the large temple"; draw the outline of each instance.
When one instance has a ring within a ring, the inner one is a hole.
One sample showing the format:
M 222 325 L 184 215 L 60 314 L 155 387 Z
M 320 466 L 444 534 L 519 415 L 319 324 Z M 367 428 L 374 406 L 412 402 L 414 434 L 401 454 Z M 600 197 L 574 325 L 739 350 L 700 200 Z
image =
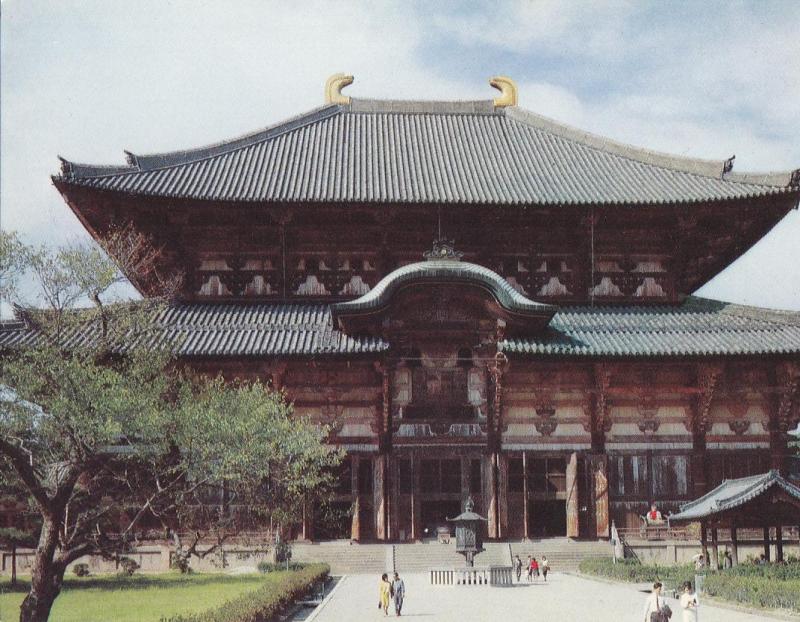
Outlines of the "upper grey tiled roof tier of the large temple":
M 574 129 L 501 100 L 350 99 L 127 166 L 62 160 L 57 184 L 244 202 L 674 204 L 800 196 L 800 173 L 737 174 Z M 515 102 L 509 100 L 512 104 Z

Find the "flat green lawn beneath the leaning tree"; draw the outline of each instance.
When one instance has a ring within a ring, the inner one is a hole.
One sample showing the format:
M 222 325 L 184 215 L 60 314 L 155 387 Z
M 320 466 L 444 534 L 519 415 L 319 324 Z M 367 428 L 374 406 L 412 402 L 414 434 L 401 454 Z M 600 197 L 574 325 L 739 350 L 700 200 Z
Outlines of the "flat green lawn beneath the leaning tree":
M 53 605 L 51 620 L 58 622 L 158 622 L 162 616 L 198 613 L 265 583 L 278 582 L 285 572 L 269 574 L 137 574 L 131 577 L 98 575 L 65 577 Z M 0 578 L 0 621 L 19 618 L 19 606 L 28 591 L 26 580 L 10 591 Z

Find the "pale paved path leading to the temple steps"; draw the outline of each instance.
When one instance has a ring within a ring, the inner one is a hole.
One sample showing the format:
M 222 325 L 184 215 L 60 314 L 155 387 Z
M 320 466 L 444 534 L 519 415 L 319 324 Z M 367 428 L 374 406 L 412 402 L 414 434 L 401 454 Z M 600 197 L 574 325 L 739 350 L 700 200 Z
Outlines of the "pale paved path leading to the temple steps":
M 378 610 L 378 579 L 372 575 L 349 575 L 331 598 L 312 614 L 309 622 L 361 622 L 386 619 Z M 427 574 L 403 577 L 406 583 L 404 618 L 420 622 L 642 622 L 646 594 L 635 586 L 606 584 L 580 577 L 553 573 L 548 582 L 513 588 L 432 586 Z M 667 601 L 681 622 L 673 599 Z M 755 622 L 768 620 L 758 615 L 704 605 L 700 600 L 701 622 Z M 394 617 L 390 606 L 389 617 Z

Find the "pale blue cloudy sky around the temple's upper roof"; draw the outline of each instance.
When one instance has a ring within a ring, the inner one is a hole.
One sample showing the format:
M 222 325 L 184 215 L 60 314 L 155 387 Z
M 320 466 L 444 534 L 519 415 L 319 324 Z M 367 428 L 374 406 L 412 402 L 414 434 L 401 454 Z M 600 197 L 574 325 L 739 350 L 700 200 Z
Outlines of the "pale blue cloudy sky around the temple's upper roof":
M 800 1 L 2 0 L 0 225 L 87 237 L 58 155 L 123 163 L 323 103 L 325 79 L 392 99 L 490 99 L 650 149 L 800 167 Z M 800 310 L 800 212 L 699 295 Z

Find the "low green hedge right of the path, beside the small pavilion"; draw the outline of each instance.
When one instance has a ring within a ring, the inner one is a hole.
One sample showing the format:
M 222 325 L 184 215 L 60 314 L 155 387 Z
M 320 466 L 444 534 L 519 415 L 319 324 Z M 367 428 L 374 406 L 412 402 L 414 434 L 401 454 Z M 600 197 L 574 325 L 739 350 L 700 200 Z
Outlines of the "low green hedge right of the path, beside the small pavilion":
M 705 574 L 703 589 L 709 596 L 755 607 L 800 612 L 800 563 L 744 564 L 719 572 L 703 569 L 696 573 L 693 565 L 645 565 L 630 559 L 615 564 L 610 559 L 600 558 L 583 560 L 579 569 L 585 574 L 617 581 L 661 581 L 668 588 L 678 588 L 684 581 L 694 583 L 695 574 Z

